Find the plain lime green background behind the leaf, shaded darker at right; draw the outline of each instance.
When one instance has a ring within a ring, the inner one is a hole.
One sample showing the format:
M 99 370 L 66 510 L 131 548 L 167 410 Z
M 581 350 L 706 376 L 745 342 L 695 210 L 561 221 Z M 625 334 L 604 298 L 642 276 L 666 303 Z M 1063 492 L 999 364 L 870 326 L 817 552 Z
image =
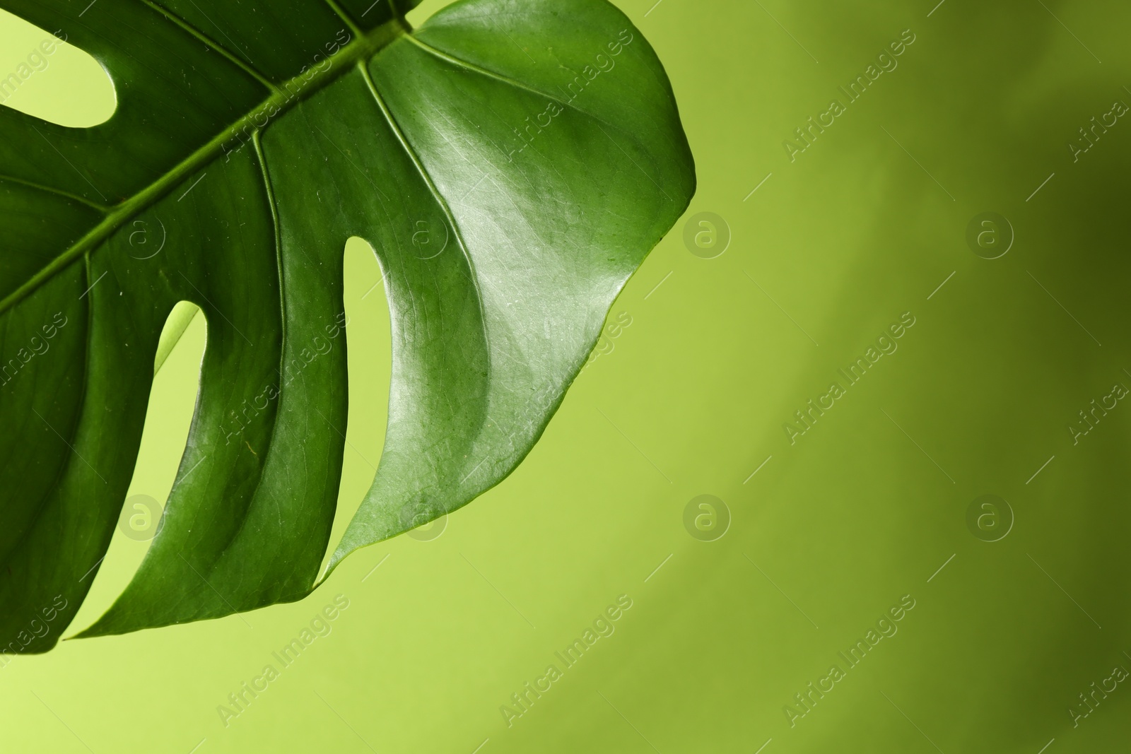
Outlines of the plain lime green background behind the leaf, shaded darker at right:
M 302 603 L 11 659 L 3 751 L 1125 751 L 1126 683 L 1069 710 L 1131 669 L 1131 408 L 1074 444 L 1069 426 L 1131 387 L 1131 124 L 1077 162 L 1068 144 L 1131 103 L 1131 9 L 653 2 L 618 5 L 667 67 L 699 192 L 529 458 L 439 537 L 362 551 Z M 898 67 L 847 103 L 837 87 L 904 29 Z M 41 38 L 0 18 L 0 73 Z M 104 120 L 90 66 L 61 50 L 7 104 Z M 846 112 L 791 162 L 783 141 L 832 98 Z M 703 211 L 729 228 L 711 259 L 684 243 Z M 966 240 L 986 211 L 1016 235 L 993 260 Z M 380 457 L 390 359 L 377 262 L 346 258 L 334 541 Z M 898 349 L 791 444 L 783 424 L 905 312 Z M 131 494 L 171 487 L 204 345 L 198 319 L 156 379 Z M 684 527 L 702 494 L 729 511 L 714 541 Z M 967 526 L 984 494 L 1015 517 L 998 541 Z M 69 633 L 145 547 L 115 535 Z M 217 707 L 338 593 L 331 633 L 225 727 Z M 615 632 L 508 726 L 500 707 L 620 595 Z M 906 595 L 849 669 L 838 652 Z M 845 677 L 791 726 L 831 665 Z

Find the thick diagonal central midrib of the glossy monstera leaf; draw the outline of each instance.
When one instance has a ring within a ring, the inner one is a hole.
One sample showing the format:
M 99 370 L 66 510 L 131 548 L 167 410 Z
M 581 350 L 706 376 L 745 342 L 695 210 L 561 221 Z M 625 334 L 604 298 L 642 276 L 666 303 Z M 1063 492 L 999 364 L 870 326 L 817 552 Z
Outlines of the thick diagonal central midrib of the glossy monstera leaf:
M 327 58 L 330 61 L 330 66 L 325 71 L 310 69 L 316 71 L 313 78 L 308 79 L 302 73 L 299 73 L 284 81 L 266 99 L 182 159 L 172 170 L 162 174 L 153 183 L 112 208 L 106 217 L 87 231 L 81 239 L 51 260 L 50 263 L 16 288 L 16 291 L 0 298 L 0 315 L 3 315 L 9 309 L 34 293 L 40 286 L 76 259 L 95 249 L 132 217 L 165 198 L 185 177 L 215 161 L 221 154 L 224 154 L 223 147 L 240 135 L 241 131 L 248 129 L 252 135 L 261 132 L 264 127 L 254 124 L 257 116 L 262 116 L 273 106 L 278 109 L 278 112 L 271 115 L 271 119 L 283 115 L 294 105 L 309 99 L 319 89 L 349 72 L 353 69 L 353 63 L 372 58 L 398 37 L 407 36 L 409 32 L 412 32 L 412 27 L 408 23 L 403 17 L 395 16 L 391 20 L 381 24 L 363 36 L 359 36 L 354 42 L 351 42 L 337 53 Z M 291 86 L 294 86 L 294 90 L 299 92 L 297 95 L 291 94 L 291 89 L 288 89 Z M 251 127 L 250 129 L 249 125 Z M 241 144 L 240 148 L 245 146 L 247 144 Z

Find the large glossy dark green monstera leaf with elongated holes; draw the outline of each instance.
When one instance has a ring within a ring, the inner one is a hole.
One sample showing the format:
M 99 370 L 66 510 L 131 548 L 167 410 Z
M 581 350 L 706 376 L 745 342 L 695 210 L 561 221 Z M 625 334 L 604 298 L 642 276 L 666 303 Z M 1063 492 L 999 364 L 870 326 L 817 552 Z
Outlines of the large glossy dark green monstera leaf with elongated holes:
M 414 31 L 412 5 L 0 1 L 118 96 L 88 129 L 0 109 L 5 651 L 50 649 L 59 632 L 28 621 L 62 626 L 93 581 L 179 302 L 208 326 L 188 443 L 143 565 L 81 635 L 313 588 L 342 473 L 348 237 L 377 251 L 394 357 L 380 467 L 331 567 L 518 465 L 682 214 L 672 90 L 613 6 L 464 0 Z

